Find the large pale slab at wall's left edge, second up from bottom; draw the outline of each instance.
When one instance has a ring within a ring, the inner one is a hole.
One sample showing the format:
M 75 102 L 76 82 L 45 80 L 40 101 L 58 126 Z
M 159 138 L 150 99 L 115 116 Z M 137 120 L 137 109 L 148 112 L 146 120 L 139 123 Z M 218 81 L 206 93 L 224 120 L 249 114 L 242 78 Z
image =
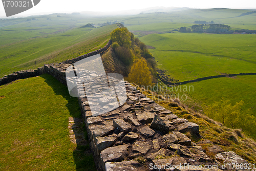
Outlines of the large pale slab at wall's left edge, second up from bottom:
M 103 167 L 106 162 L 120 162 L 126 158 L 128 155 L 127 147 L 129 146 L 130 144 L 108 147 L 100 152 L 100 161 Z

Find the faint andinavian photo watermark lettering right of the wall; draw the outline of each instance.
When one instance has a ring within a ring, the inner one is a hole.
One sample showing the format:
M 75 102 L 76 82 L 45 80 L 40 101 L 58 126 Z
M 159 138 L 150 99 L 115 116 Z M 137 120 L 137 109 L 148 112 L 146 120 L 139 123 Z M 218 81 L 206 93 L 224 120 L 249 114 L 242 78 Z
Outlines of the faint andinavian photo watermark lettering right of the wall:
M 175 100 L 180 99 L 182 101 L 187 100 L 187 95 L 183 94 L 186 92 L 194 92 L 194 86 L 161 86 L 158 83 L 155 86 L 140 86 L 140 88 L 144 89 L 146 92 L 163 92 L 163 95 L 157 94 L 156 96 L 152 96 L 152 100 L 159 101 L 159 99 L 164 98 L 166 100 Z

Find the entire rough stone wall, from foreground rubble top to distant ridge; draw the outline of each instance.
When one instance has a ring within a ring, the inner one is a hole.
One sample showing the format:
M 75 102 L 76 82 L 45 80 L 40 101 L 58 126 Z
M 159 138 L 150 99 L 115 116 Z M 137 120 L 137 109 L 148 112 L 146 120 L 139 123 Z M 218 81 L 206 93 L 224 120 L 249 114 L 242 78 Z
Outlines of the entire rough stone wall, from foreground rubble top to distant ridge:
M 65 71 L 72 63 L 103 53 L 110 45 L 111 41 L 104 48 L 75 59 L 45 65 L 38 70 L 10 74 L 0 84 L 43 73 L 67 84 Z M 98 109 L 107 110 L 113 105 L 113 97 L 99 94 L 93 102 L 88 102 L 86 97 L 78 98 L 97 170 L 165 170 L 164 167 L 168 169 L 169 165 L 177 167 L 168 170 L 220 170 L 194 166 L 218 165 L 220 168 L 219 161 L 227 163 L 226 166 L 229 163 L 247 163 L 234 152 L 224 152 L 220 146 L 209 140 L 193 143 L 185 133 L 200 136 L 200 128 L 196 123 L 178 118 L 172 111 L 147 98 L 129 82 L 125 82 L 125 89 L 127 99 L 123 105 L 96 117 L 92 117 L 89 103 L 99 102 Z M 79 89 L 79 94 L 84 94 L 84 91 Z M 205 144 L 208 152 L 215 155 L 215 159 L 206 155 L 202 148 Z

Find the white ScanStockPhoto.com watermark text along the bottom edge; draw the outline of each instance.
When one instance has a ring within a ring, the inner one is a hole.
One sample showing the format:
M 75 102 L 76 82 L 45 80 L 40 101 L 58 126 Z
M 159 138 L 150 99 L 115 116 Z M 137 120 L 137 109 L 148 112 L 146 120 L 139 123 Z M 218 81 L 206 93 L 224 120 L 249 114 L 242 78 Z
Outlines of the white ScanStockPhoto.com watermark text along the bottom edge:
M 166 164 L 158 164 L 155 165 L 153 163 L 150 163 L 150 169 L 151 170 L 161 170 L 161 169 L 166 169 L 166 170 L 175 170 L 175 169 L 218 169 L 218 165 L 200 165 L 200 164 L 196 164 L 196 165 L 190 165 L 188 163 L 185 164 L 179 164 L 179 165 L 172 165 L 170 163 L 166 163 Z

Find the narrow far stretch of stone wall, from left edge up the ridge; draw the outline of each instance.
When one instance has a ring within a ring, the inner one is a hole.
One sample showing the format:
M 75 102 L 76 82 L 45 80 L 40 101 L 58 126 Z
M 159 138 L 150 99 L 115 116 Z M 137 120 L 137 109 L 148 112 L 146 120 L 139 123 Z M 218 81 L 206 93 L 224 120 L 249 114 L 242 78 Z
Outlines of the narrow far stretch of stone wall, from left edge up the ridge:
M 108 43 L 103 48 L 87 53 L 85 55 L 81 55 L 73 59 L 62 61 L 60 63 L 47 64 L 38 68 L 37 70 L 18 71 L 18 72 L 14 72 L 12 74 L 6 75 L 3 78 L 0 78 L 0 86 L 2 86 L 3 84 L 9 83 L 11 81 L 14 81 L 16 79 L 35 77 L 45 73 L 52 75 L 61 83 L 67 84 L 65 71 L 72 63 L 75 63 L 81 59 L 84 59 L 96 54 L 104 54 L 106 51 L 108 51 L 111 44 L 112 44 L 112 41 L 109 40 Z

